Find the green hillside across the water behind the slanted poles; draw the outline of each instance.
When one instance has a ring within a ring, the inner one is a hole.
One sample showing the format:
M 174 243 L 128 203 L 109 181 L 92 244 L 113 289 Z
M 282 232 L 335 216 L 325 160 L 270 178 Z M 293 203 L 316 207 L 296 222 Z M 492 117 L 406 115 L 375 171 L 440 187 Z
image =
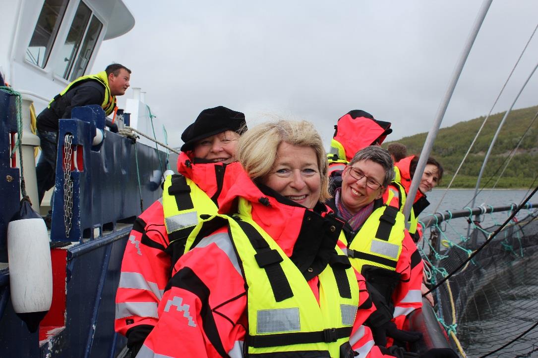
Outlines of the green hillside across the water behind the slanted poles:
M 508 164 L 504 174 L 500 178 L 497 188 L 529 188 L 538 183 L 538 119 L 534 120 L 538 112 L 538 106 L 513 110 L 506 118 L 499 137 L 495 142 L 493 152 L 482 178 L 481 186 L 493 187 L 501 173 L 503 163 L 509 154 L 523 138 L 518 151 Z M 480 133 L 471 153 L 465 160 L 462 169 L 452 184 L 453 188 L 474 188 L 476 178 L 484 162 L 484 157 L 491 140 L 505 112 L 493 114 L 487 120 L 485 127 Z M 459 122 L 451 127 L 442 128 L 437 134 L 431 156 L 441 162 L 445 169 L 445 175 L 441 186 L 446 186 L 454 175 L 459 163 L 467 152 L 478 128 L 482 125 L 485 117 L 479 117 L 468 121 Z M 530 126 L 530 128 L 529 128 Z M 427 133 L 420 133 L 405 137 L 397 142 L 407 146 L 407 153 L 420 154 Z M 387 147 L 391 142 L 385 142 Z M 536 181 L 536 182 L 535 182 Z M 533 185 L 534 183 L 534 185 Z

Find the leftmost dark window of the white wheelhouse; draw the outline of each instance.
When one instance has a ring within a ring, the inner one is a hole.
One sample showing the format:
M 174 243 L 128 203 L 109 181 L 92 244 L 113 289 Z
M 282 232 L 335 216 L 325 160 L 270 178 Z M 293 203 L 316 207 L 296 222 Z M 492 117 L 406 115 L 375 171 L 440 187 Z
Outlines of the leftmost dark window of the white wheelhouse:
M 32 39 L 26 48 L 26 61 L 45 67 L 68 3 L 69 0 L 45 0 Z

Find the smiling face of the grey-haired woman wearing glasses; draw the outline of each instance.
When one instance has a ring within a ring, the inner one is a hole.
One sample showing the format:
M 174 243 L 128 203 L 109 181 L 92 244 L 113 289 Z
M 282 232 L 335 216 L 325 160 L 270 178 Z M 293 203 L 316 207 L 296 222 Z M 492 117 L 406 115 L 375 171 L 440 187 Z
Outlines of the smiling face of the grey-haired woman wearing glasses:
M 383 183 L 385 178 L 385 169 L 381 164 L 371 160 L 360 160 L 354 163 L 352 168 L 361 172 L 364 177 L 357 180 L 350 174 L 351 168 L 348 166 L 342 172 L 342 192 L 340 199 L 349 212 L 355 214 L 364 206 L 370 204 L 375 199 L 383 196 L 384 187 L 371 189 L 367 184 L 368 181 Z

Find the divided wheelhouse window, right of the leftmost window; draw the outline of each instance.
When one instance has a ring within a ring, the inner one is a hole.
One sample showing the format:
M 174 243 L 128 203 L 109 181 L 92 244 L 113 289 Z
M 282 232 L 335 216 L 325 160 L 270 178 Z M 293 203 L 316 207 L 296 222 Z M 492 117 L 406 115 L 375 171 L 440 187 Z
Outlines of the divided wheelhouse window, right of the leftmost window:
M 103 24 L 91 15 L 90 8 L 81 2 L 76 9 L 65 44 L 60 49 L 54 73 L 66 80 L 74 80 L 84 74 L 102 27 Z

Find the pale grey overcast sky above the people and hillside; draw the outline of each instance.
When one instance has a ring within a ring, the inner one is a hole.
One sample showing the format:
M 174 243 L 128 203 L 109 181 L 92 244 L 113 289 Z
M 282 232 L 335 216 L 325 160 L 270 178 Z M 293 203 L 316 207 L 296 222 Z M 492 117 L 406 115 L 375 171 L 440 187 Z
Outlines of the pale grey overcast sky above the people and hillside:
M 427 132 L 482 5 L 124 1 L 136 24 L 103 42 L 93 72 L 111 62 L 132 69 L 131 87 L 147 92 L 174 146 L 201 110 L 217 105 L 244 112 L 249 125 L 266 113 L 310 120 L 327 146 L 337 119 L 353 109 L 390 121 L 387 141 Z M 535 0 L 493 1 L 442 127 L 490 111 L 537 14 Z M 508 109 L 537 62 L 538 33 L 493 113 Z M 536 104 L 538 74 L 515 108 Z

